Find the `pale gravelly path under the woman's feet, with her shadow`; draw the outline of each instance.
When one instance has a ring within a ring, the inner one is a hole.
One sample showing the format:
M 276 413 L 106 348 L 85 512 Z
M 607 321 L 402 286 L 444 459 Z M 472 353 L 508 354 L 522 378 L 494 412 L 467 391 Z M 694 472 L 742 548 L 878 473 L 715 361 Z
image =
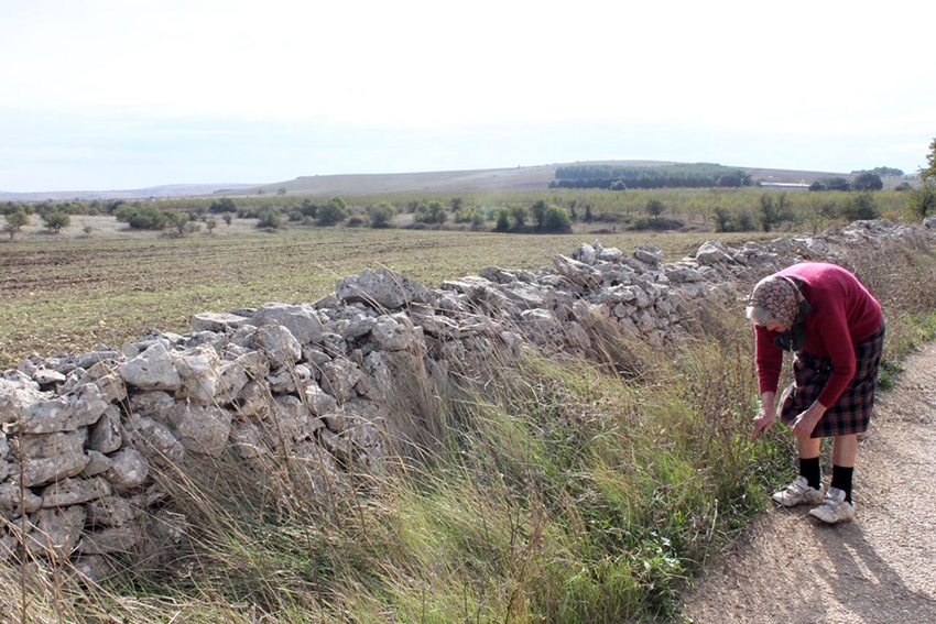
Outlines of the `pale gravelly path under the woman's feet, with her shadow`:
M 856 467 L 856 522 L 773 511 L 698 581 L 685 622 L 936 622 L 936 344 L 906 361 L 877 412 Z

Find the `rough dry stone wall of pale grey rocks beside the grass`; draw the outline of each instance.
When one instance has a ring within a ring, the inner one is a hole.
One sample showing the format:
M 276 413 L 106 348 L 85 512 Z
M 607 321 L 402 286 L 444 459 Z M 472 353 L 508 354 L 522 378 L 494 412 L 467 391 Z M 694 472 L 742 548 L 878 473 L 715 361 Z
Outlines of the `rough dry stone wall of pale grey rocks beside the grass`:
M 740 249 L 707 242 L 675 263 L 653 247 L 625 254 L 596 241 L 540 271 L 489 266 L 437 289 L 367 270 L 313 304 L 199 314 L 186 335 L 33 355 L 0 375 L 0 559 L 28 547 L 95 576 L 101 556 L 184 536 L 155 466 L 232 452 L 260 467 L 289 453 L 313 484 L 378 471 L 401 436 L 406 406 L 394 396 L 414 369 L 445 375 L 525 346 L 588 358 L 596 317 L 678 341 L 699 302 L 737 299 L 786 265 L 934 238 L 936 219 L 859 221 Z

